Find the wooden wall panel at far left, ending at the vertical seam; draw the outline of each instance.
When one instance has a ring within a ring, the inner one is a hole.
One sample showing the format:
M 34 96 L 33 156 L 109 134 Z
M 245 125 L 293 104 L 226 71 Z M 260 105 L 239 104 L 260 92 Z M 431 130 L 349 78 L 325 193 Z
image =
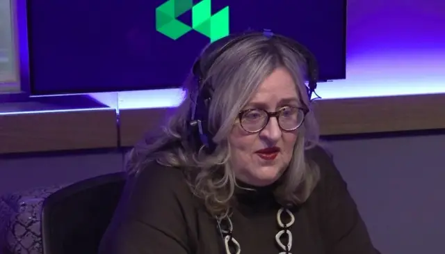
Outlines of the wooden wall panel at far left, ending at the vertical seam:
M 0 153 L 116 148 L 114 109 L 0 115 Z

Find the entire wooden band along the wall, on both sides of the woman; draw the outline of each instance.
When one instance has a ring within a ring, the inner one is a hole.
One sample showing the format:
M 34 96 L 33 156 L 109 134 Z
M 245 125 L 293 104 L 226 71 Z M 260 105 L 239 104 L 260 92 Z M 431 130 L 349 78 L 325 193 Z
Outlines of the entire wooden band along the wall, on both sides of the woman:
M 118 148 L 156 131 L 170 109 L 114 109 L 0 115 L 0 153 Z M 445 129 L 445 94 L 319 100 L 325 136 Z

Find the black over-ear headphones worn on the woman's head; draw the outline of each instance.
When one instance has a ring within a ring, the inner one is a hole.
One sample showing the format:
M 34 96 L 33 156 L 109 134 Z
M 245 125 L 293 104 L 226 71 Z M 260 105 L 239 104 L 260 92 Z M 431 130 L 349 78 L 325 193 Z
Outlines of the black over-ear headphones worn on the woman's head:
M 222 54 L 224 54 L 225 51 L 227 51 L 227 49 L 234 47 L 234 45 L 238 44 L 238 42 L 241 42 L 242 40 L 245 40 L 245 38 L 248 38 L 252 35 L 258 35 L 258 33 L 250 32 L 243 33 L 242 35 L 229 35 L 216 43 L 212 43 L 211 45 L 209 45 L 209 48 L 211 48 L 212 45 L 216 45 L 213 46 L 216 47 L 216 49 L 210 49 L 211 52 L 209 54 L 205 54 L 205 51 L 209 50 L 205 49 L 203 55 L 208 57 L 200 56 L 193 64 L 192 72 L 195 80 L 197 81 L 197 93 L 195 93 L 195 98 L 193 100 L 193 102 L 195 103 L 191 108 L 188 127 L 190 141 L 191 143 L 193 143 L 193 146 L 197 148 L 197 150 L 204 148 L 207 154 L 211 154 L 214 150 L 216 150 L 216 143 L 214 143 L 212 140 L 213 134 L 209 132 L 208 128 L 209 106 L 213 89 L 209 84 L 205 84 L 203 82 L 207 75 L 207 71 L 211 68 L 211 65 Z M 306 92 L 307 96 L 309 97 L 309 101 L 312 101 L 312 93 L 316 95 L 315 89 L 317 87 L 318 81 L 318 63 L 314 54 L 312 54 L 309 49 L 301 45 L 296 40 L 292 40 L 291 38 L 287 38 L 282 35 L 275 35 L 269 29 L 264 29 L 263 35 L 269 39 L 279 40 L 289 49 L 295 51 L 296 53 L 302 55 L 303 58 L 305 58 L 308 81 Z M 221 47 L 220 44 L 223 44 L 223 46 Z M 204 63 L 207 63 L 207 66 L 202 66 L 203 58 L 208 58 L 206 59 L 206 61 L 204 61 Z

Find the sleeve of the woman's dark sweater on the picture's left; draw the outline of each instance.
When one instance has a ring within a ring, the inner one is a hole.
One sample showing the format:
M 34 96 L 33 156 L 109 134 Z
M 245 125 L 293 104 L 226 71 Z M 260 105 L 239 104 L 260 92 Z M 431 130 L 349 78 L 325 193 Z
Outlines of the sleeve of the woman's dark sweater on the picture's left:
M 128 181 L 99 254 L 193 253 L 191 192 L 176 168 L 157 164 Z

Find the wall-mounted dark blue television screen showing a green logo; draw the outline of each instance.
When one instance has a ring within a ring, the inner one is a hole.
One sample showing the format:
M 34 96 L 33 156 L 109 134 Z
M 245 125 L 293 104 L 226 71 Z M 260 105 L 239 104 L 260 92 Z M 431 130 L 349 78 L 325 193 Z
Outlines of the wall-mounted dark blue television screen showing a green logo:
M 321 81 L 346 76 L 346 0 L 33 0 L 27 13 L 34 95 L 177 88 L 211 40 L 263 29 L 306 45 Z

